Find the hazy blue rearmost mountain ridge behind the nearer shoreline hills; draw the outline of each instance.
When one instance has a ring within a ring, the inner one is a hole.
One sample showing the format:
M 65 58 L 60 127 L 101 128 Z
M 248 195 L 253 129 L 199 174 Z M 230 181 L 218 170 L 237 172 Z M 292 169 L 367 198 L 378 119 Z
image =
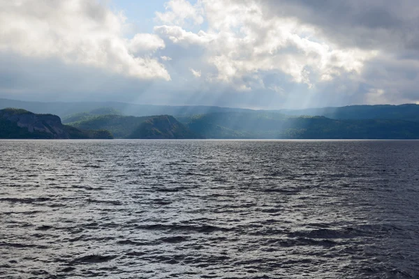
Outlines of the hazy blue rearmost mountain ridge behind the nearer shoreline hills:
M 27 102 L 0 98 L 0 109 L 6 107 L 20 107 L 35 113 L 50 113 L 61 116 L 64 122 L 74 114 L 95 114 L 94 110 L 113 110 L 101 114 L 122 114 L 127 116 L 149 116 L 168 114 L 172 116 L 192 116 L 197 114 L 213 114 L 221 112 L 273 112 L 291 116 L 325 116 L 330 119 L 400 119 L 419 122 L 419 105 L 348 105 L 345 107 L 322 107 L 302 110 L 249 110 L 234 107 L 216 107 L 202 105 L 140 105 L 121 102 Z M 98 114 L 98 113 L 96 113 Z M 80 115 L 79 115 L 80 116 Z

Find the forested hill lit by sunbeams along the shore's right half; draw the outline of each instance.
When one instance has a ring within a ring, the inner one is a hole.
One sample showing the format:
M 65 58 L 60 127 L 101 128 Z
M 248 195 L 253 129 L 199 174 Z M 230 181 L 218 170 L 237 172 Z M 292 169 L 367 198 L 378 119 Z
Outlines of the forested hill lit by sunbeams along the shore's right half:
M 276 113 L 203 114 L 179 118 L 207 138 L 253 139 L 419 139 L 419 123 L 403 120 L 336 120 Z

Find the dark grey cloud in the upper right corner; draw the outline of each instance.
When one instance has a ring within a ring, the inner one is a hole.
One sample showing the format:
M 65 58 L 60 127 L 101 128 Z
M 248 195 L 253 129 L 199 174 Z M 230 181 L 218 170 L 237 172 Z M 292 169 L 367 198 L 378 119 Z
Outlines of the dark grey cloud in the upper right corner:
M 265 13 L 297 17 L 335 43 L 360 48 L 419 50 L 416 0 L 262 0 Z

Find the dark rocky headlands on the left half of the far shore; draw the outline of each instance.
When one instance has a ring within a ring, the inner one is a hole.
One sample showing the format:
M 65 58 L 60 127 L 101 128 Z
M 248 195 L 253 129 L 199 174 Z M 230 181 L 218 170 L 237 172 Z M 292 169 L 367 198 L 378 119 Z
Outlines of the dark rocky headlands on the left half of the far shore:
M 108 110 L 103 110 L 108 112 Z M 0 110 L 0 138 L 9 139 L 196 139 L 191 132 L 173 116 L 121 116 L 105 114 L 90 116 L 63 125 L 53 114 L 34 114 L 27 110 L 6 108 Z

